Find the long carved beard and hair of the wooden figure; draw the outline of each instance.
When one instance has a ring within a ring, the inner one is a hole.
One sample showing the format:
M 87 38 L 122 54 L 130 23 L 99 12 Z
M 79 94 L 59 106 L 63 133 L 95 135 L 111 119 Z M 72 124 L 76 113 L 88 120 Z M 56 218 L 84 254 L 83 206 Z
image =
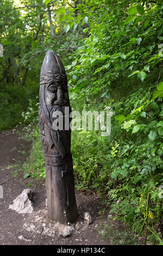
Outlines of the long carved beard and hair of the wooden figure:
M 40 87 L 40 109 L 41 109 L 41 117 L 40 117 L 40 130 L 41 130 L 41 124 L 43 123 L 43 129 L 45 133 L 45 139 L 49 145 L 49 147 L 53 148 L 54 146 L 57 147 L 59 153 L 62 156 L 62 159 L 66 155 L 71 154 L 71 141 L 70 141 L 70 133 L 71 130 L 65 131 L 65 130 L 53 130 L 52 124 L 55 118 L 53 118 L 53 113 L 55 111 L 60 111 L 63 114 L 63 118 L 65 115 L 64 107 L 61 107 L 59 105 L 46 105 L 45 101 L 45 88 L 46 86 L 42 85 Z M 70 107 L 70 106 L 69 106 Z M 64 124 L 63 124 L 64 125 Z M 45 129 L 46 126 L 46 129 Z M 64 128 L 64 126 L 63 126 Z

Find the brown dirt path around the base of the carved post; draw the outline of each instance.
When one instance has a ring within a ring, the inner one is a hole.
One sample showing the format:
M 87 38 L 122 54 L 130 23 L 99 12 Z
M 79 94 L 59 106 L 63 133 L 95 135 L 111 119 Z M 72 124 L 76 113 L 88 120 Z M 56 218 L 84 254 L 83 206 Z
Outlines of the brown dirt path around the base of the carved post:
M 45 179 L 35 180 L 32 178 L 23 179 L 24 173 L 17 171 L 17 164 L 25 161 L 21 152 L 27 151 L 30 144 L 20 138 L 16 129 L 0 133 L 0 185 L 3 186 L 3 199 L 0 198 L 0 245 L 109 245 L 109 240 L 102 239 L 98 235 L 97 225 L 103 220 L 107 222 L 107 216 L 99 218 L 99 211 L 103 209 L 101 198 L 93 193 L 76 192 L 78 211 L 80 216 L 78 222 L 82 222 L 82 215 L 85 211 L 90 212 L 93 223 L 85 230 L 76 230 L 70 237 L 39 235 L 30 233 L 24 229 L 24 223 L 32 222 L 35 212 L 46 209 L 46 187 Z M 20 168 L 20 167 L 19 167 Z M 30 185 L 33 191 L 33 214 L 18 214 L 9 209 L 9 205 L 25 188 Z M 23 235 L 27 240 L 20 240 L 18 236 Z

